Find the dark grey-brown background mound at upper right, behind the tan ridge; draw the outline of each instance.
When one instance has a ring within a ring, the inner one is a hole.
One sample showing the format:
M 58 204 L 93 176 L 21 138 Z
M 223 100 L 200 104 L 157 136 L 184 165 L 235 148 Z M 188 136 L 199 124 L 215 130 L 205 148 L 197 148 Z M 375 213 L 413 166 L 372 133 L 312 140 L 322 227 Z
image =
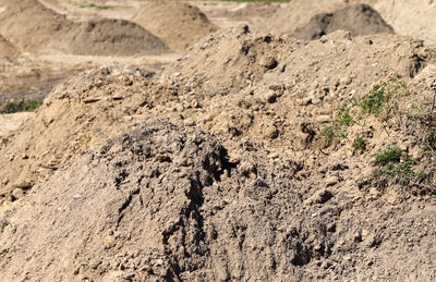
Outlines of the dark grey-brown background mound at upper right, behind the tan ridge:
M 296 38 L 313 40 L 335 30 L 348 30 L 353 36 L 388 33 L 393 34 L 383 17 L 366 4 L 348 5 L 334 13 L 317 14 L 295 30 Z

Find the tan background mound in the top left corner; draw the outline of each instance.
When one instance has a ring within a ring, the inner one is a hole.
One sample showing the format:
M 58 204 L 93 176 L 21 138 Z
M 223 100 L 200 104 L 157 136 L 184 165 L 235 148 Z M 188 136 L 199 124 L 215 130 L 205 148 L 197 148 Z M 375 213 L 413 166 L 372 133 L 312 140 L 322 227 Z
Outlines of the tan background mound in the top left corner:
M 0 4 L 7 7 L 0 13 L 0 34 L 21 51 L 44 46 L 61 28 L 71 24 L 63 15 L 47 9 L 37 0 L 0 0 Z

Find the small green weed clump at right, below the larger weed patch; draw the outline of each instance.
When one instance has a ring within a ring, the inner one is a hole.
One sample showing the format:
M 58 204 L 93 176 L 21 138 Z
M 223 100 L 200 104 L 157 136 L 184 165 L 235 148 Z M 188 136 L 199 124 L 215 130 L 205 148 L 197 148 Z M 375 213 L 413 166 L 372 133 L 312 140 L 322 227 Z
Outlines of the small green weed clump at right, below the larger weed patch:
M 412 165 L 415 160 L 397 146 L 388 146 L 385 151 L 374 156 L 374 164 L 380 167 L 379 175 L 401 185 L 407 185 L 416 175 Z

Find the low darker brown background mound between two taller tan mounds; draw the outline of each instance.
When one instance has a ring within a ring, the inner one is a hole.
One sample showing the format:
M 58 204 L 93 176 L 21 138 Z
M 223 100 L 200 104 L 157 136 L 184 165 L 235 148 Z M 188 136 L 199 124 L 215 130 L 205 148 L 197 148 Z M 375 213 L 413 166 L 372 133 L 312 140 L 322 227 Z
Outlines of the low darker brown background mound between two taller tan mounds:
M 143 27 L 124 20 L 95 20 L 63 28 L 49 45 L 66 53 L 95 56 L 156 54 L 167 46 Z

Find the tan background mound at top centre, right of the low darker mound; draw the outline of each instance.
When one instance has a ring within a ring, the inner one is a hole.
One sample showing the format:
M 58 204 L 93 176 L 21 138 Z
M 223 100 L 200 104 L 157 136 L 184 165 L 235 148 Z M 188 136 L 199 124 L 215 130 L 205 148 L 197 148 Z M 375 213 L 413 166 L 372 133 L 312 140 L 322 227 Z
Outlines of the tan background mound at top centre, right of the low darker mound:
M 161 38 L 171 49 L 185 50 L 217 30 L 198 8 L 180 2 L 145 4 L 132 21 Z

